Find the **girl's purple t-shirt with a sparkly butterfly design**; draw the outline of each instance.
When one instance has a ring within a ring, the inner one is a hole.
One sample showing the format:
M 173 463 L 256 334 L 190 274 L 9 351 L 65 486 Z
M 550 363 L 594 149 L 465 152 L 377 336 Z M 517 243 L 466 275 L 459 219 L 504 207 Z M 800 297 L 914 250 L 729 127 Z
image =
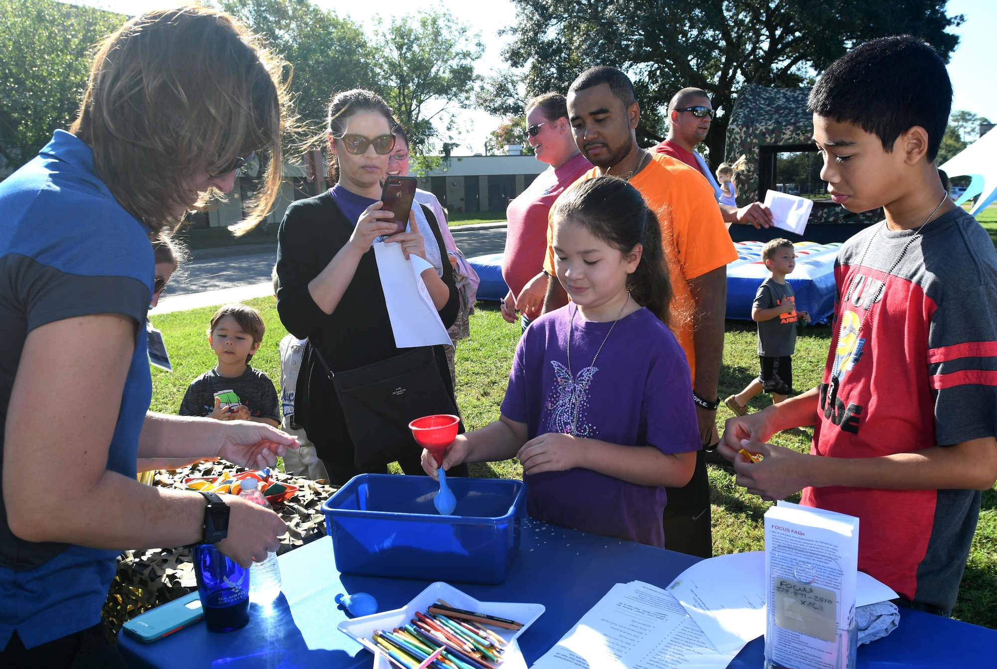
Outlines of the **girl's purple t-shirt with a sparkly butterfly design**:
M 569 374 L 567 335 L 575 308 L 569 304 L 526 328 L 515 350 L 502 415 L 525 423 L 529 439 L 550 432 L 571 434 L 573 425 L 576 436 L 610 444 L 653 446 L 666 454 L 701 449 L 689 365 L 671 330 L 647 309 L 620 319 L 611 333 L 611 321 L 585 321 L 577 314 Z M 533 517 L 665 544 L 664 488 L 580 468 L 523 480 L 527 512 Z

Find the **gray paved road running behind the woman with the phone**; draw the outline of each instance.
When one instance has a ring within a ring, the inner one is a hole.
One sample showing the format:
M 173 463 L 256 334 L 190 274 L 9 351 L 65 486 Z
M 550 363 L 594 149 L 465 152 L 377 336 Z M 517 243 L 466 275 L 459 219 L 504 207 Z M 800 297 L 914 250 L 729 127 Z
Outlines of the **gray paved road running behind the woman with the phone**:
M 461 230 L 451 228 L 454 241 L 466 256 L 500 253 L 505 247 L 505 228 Z M 183 266 L 183 272 L 169 282 L 167 297 L 200 293 L 207 290 L 234 288 L 270 280 L 277 251 L 231 255 L 222 258 L 193 260 Z

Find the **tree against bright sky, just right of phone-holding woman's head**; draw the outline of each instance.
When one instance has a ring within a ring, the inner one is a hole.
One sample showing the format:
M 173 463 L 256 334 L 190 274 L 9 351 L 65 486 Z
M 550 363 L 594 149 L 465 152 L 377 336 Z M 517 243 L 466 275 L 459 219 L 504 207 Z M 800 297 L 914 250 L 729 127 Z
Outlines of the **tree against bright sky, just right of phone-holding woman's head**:
M 474 85 L 481 80 L 475 61 L 485 46 L 480 33 L 469 32 L 470 26 L 438 9 L 392 17 L 389 25 L 378 26 L 378 86 L 410 132 L 410 149 L 417 154 L 442 138 L 437 124 L 454 129 L 455 107 L 471 106 Z

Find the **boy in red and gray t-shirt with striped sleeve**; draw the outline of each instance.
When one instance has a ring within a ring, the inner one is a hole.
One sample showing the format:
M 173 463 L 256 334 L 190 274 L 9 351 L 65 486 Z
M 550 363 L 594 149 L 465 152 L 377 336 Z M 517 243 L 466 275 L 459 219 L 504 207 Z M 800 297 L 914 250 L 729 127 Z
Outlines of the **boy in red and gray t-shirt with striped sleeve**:
M 749 492 L 857 516 L 858 568 L 943 615 L 997 480 L 997 253 L 934 167 L 951 100 L 944 63 L 909 36 L 856 48 L 814 88 L 831 196 L 885 220 L 838 253 L 821 385 L 729 420 L 720 447 Z M 809 456 L 763 443 L 808 425 Z

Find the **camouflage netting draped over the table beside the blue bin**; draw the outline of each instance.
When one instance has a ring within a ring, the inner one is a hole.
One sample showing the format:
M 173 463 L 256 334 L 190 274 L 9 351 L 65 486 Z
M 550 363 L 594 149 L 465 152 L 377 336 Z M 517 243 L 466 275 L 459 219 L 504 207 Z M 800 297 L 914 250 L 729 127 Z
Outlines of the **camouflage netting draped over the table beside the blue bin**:
M 215 477 L 223 470 L 231 475 L 246 471 L 229 463 L 200 463 L 181 470 L 160 470 L 154 485 L 183 489 L 183 479 L 187 477 Z M 300 489 L 287 502 L 274 504 L 274 510 L 287 523 L 287 534 L 280 539 L 278 553 L 325 536 L 325 516 L 320 507 L 336 489 L 324 482 L 299 479 L 276 469 L 270 480 L 293 484 Z M 196 588 L 192 548 L 127 550 L 118 556 L 118 572 L 102 611 L 104 622 L 109 633 L 117 634 L 123 624 L 140 613 Z

